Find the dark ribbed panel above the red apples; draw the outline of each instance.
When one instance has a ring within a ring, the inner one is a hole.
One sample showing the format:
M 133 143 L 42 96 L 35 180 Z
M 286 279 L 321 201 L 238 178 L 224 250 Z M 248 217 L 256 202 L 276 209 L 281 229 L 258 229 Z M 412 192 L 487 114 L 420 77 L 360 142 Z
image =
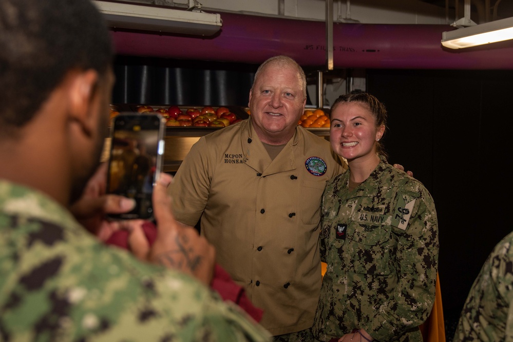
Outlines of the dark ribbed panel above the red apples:
M 247 106 L 258 66 L 117 56 L 112 103 Z

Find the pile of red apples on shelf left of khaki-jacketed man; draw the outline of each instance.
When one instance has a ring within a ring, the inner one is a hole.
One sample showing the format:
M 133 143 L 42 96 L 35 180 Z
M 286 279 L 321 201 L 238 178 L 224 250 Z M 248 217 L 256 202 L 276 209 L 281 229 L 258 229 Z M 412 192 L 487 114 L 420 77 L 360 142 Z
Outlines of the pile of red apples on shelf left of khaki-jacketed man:
M 139 113 L 159 113 L 166 119 L 167 127 L 216 127 L 230 126 L 242 120 L 227 107 L 178 107 L 149 106 L 135 107 Z

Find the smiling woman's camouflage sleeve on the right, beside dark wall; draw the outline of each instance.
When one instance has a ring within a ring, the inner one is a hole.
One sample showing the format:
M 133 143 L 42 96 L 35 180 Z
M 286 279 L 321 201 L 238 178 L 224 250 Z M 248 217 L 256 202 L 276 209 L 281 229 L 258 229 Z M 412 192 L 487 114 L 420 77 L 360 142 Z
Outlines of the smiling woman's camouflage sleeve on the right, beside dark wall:
M 438 272 L 438 220 L 431 195 L 422 188 L 415 190 L 420 191 L 402 193 L 406 203 L 404 208 L 408 208 L 408 203 L 414 201 L 411 215 L 405 221 L 406 226 L 401 222 L 392 223 L 392 234 L 398 240 L 395 258 L 392 260 L 397 272 L 397 286 L 389 296 L 390 299 L 381 305 L 374 319 L 370 320 L 369 330 L 364 327 L 372 331 L 372 337 L 378 340 L 390 340 L 393 336 L 421 325 L 429 316 L 434 303 Z

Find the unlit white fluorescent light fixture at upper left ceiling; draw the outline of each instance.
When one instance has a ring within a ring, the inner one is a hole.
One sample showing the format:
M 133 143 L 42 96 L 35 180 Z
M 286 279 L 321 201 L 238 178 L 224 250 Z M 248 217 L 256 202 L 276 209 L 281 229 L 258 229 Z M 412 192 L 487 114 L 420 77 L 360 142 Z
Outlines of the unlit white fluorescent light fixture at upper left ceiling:
M 163 7 L 93 0 L 113 28 L 213 35 L 221 29 L 221 15 Z

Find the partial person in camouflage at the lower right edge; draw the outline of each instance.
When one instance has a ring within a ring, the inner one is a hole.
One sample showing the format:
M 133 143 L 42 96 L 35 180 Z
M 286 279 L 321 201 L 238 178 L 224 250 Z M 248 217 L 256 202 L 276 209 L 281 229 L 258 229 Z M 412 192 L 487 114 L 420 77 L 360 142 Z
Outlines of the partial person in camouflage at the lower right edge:
M 513 232 L 493 248 L 463 306 L 460 341 L 513 341 Z

